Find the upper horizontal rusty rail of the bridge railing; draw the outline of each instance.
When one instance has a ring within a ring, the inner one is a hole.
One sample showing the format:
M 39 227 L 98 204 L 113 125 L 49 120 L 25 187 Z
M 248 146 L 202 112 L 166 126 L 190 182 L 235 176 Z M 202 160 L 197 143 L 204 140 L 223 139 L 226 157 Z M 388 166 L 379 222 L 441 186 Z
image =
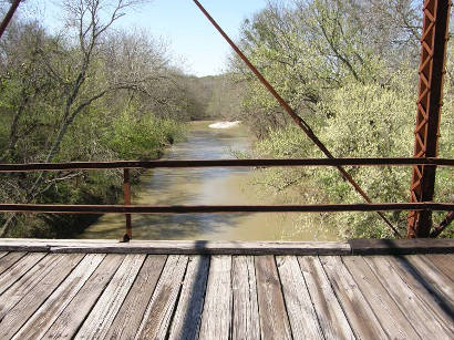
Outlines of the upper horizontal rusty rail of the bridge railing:
M 451 158 L 289 158 L 289 159 L 158 159 L 0 164 L 0 173 L 58 172 L 112 168 L 271 167 L 271 166 L 454 166 Z

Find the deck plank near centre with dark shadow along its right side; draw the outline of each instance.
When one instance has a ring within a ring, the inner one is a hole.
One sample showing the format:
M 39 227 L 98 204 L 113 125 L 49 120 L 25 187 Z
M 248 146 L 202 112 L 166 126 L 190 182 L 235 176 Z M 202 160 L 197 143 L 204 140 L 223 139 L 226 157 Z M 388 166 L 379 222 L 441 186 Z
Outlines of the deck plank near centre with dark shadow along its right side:
M 208 280 L 209 257 L 192 256 L 168 339 L 197 339 Z

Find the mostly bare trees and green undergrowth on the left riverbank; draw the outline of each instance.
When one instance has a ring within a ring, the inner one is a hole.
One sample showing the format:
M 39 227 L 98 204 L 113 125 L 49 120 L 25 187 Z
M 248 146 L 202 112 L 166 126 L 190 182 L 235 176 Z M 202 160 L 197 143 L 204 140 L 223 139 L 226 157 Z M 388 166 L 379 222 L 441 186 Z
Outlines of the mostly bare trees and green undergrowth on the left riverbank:
M 184 137 L 192 99 L 179 91 L 180 75 L 162 47 L 144 34 L 109 30 L 91 54 L 86 47 L 20 18 L 9 27 L 0 40 L 0 162 L 149 159 Z M 123 182 L 120 171 L 2 177 L 6 203 L 114 204 Z M 8 217 L 0 215 L 1 226 Z M 92 221 L 17 214 L 0 233 L 74 237 Z

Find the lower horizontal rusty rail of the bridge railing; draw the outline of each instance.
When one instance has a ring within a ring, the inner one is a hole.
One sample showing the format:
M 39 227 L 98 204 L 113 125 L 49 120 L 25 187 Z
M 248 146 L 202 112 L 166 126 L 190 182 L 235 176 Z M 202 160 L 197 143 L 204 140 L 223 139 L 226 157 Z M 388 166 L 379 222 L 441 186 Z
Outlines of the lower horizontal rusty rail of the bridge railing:
M 204 214 L 204 213 L 342 213 L 342 212 L 398 212 L 398 210 L 454 210 L 454 203 L 373 203 L 373 204 L 318 204 L 318 205 L 53 205 L 0 204 L 6 213 L 55 214 Z

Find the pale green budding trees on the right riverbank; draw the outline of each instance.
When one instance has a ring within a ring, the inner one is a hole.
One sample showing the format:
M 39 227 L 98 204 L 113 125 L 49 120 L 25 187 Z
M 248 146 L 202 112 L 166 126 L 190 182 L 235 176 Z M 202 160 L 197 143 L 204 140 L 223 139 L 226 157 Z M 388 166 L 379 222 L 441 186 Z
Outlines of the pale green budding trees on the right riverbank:
M 386 8 L 386 10 L 383 10 Z M 270 1 L 245 22 L 243 48 L 276 90 L 336 157 L 411 157 L 417 92 L 417 29 L 412 2 Z M 411 23 L 411 24 L 410 24 Z M 454 62 L 448 45 L 440 156 L 454 157 Z M 243 104 L 260 142 L 256 156 L 321 157 L 320 151 L 238 60 L 233 70 L 248 85 Z M 240 75 L 246 74 L 246 75 Z M 411 167 L 350 167 L 374 202 L 409 202 Z M 299 202 L 361 203 L 334 168 L 260 171 L 265 189 L 292 190 Z M 452 202 L 451 168 L 438 168 L 435 200 Z M 434 214 L 440 221 L 445 214 Z M 406 212 L 386 214 L 402 234 Z M 303 215 L 301 224 L 330 226 L 341 237 L 393 237 L 374 213 Z M 446 233 L 454 236 L 454 231 Z

